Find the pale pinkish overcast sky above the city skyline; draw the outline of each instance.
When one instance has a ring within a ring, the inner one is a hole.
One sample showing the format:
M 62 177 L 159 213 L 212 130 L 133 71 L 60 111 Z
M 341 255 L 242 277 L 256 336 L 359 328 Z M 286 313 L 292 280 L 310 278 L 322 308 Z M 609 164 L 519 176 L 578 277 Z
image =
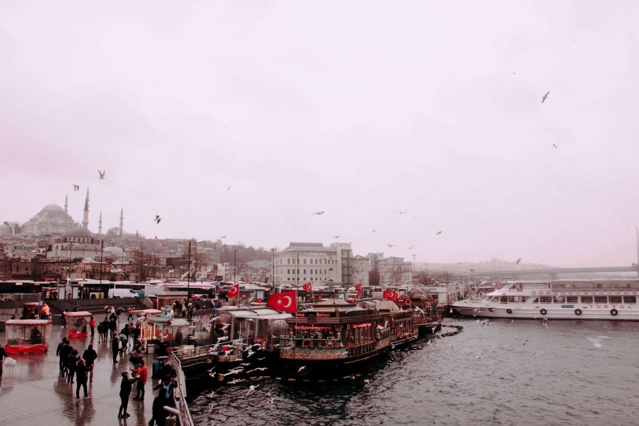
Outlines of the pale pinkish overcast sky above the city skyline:
M 150 238 L 574 265 L 634 241 L 638 22 L 636 1 L 2 1 L 0 221 L 65 194 L 81 221 L 89 186 L 93 232 L 123 207 Z

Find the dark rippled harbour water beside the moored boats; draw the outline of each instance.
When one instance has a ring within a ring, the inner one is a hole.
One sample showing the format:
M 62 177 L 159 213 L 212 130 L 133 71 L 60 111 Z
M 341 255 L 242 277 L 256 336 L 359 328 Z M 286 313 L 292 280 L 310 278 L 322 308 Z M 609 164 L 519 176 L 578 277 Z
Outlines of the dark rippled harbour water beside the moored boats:
M 445 324 L 464 331 L 355 380 L 225 385 L 190 395 L 192 414 L 199 425 L 639 425 L 638 323 Z

